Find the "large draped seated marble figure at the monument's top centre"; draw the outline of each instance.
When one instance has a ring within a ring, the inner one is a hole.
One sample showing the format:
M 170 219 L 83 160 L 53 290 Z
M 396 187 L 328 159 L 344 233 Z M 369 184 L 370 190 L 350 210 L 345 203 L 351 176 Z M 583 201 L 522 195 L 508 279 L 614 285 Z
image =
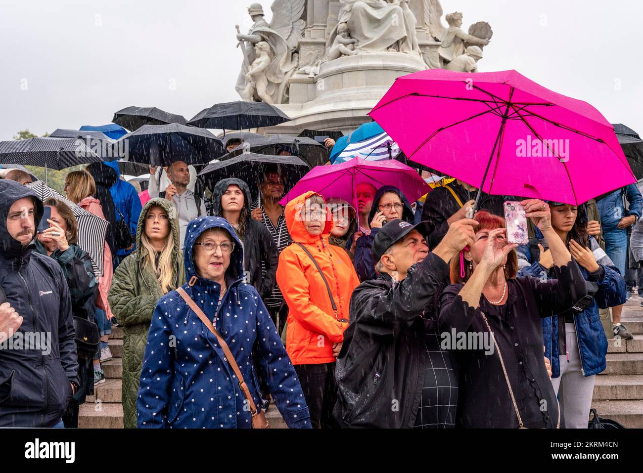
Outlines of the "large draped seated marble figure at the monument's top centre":
M 331 31 L 327 51 L 335 44 L 340 25 L 346 24 L 359 52 L 419 54 L 416 23 L 408 0 L 340 0 L 338 24 Z

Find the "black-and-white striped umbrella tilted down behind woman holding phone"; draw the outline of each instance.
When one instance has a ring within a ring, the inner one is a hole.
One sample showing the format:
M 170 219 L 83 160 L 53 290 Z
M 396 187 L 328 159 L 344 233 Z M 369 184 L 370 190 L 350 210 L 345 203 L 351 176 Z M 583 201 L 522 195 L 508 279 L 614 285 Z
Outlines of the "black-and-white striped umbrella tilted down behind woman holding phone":
M 86 211 L 84 208 L 77 206 L 66 197 L 62 197 L 58 192 L 42 181 L 35 181 L 27 184 L 27 187 L 38 195 L 42 202 L 50 197 L 65 202 L 73 211 L 78 222 L 78 246 L 86 251 L 91 258 L 91 265 L 94 267 L 96 276 L 103 275 L 103 260 L 105 257 L 105 233 L 107 232 L 107 220 L 101 219 L 97 215 Z

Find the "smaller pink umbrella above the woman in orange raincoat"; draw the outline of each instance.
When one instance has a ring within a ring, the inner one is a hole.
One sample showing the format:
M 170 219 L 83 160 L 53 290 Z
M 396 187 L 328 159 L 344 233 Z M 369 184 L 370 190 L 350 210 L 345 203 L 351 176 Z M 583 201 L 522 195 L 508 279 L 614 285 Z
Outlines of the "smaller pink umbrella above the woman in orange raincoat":
M 356 157 L 336 165 L 315 166 L 279 203 L 285 205 L 298 195 L 312 190 L 324 199 L 340 197 L 354 202 L 357 208 L 356 187 L 362 183 L 373 184 L 376 189 L 395 186 L 409 202 L 417 201 L 431 190 L 413 168 L 399 161 L 366 161 Z

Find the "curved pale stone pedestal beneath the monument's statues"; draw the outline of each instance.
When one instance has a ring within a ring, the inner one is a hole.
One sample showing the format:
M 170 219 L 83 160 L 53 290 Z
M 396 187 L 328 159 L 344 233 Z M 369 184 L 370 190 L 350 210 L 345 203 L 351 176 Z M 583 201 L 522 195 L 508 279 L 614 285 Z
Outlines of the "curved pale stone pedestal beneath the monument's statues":
M 301 41 L 307 58 L 321 51 L 323 46 L 318 43 L 320 40 L 315 39 Z M 437 57 L 439 46 L 439 42 L 422 41 L 423 56 Z M 314 129 L 341 130 L 346 134 L 371 121 L 368 112 L 395 78 L 427 68 L 421 58 L 401 53 L 359 54 L 323 62 L 318 75 L 291 76 L 288 103 L 276 107 L 293 120 L 264 132 L 296 135 L 303 129 Z

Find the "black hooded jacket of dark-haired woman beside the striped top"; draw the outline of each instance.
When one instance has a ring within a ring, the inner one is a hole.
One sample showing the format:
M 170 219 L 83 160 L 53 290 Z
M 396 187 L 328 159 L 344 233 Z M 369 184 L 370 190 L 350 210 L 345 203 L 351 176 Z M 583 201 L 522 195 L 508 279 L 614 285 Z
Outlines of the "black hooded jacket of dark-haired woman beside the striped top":
M 275 273 L 279 261 L 279 253 L 275 240 L 264 224 L 257 222 L 250 215 L 251 195 L 248 184 L 241 179 L 230 177 L 222 179 L 215 184 L 212 190 L 212 208 L 214 215 L 221 217 L 221 196 L 228 189 L 228 186 L 235 184 L 239 186 L 244 195 L 244 207 L 246 208 L 246 229 L 243 235 L 244 271 L 246 282 L 258 290 L 264 301 L 273 293 L 275 287 Z M 261 277 L 261 262 L 266 263 L 266 277 Z

